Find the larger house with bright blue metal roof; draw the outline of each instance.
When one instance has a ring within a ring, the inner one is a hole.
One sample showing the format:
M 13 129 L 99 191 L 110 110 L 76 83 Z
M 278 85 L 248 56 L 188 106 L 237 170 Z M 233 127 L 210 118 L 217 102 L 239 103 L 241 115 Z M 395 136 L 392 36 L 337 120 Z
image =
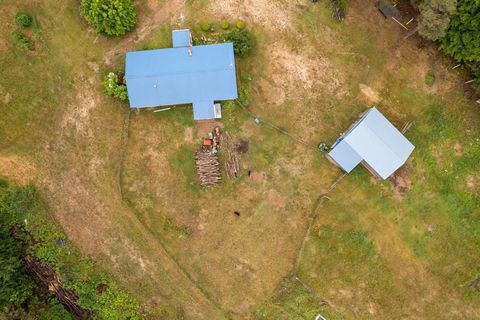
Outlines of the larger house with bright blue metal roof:
M 193 105 L 195 120 L 219 117 L 215 101 L 238 97 L 232 43 L 192 45 L 190 30 L 172 32 L 172 48 L 127 52 L 130 108 Z

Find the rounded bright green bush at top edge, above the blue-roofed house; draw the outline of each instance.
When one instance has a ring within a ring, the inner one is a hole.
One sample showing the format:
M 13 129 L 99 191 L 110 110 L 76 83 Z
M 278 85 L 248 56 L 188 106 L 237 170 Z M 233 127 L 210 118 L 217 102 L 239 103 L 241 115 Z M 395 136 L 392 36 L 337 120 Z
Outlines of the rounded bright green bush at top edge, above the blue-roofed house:
M 123 35 L 137 23 L 132 0 L 82 0 L 81 12 L 97 33 L 106 35 Z

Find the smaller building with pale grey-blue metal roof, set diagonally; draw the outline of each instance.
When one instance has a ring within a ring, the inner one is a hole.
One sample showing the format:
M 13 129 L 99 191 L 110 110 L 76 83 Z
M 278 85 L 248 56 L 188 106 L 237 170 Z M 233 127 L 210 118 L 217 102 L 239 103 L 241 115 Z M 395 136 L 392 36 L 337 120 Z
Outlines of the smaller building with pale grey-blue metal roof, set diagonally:
M 407 161 L 414 148 L 373 107 L 335 142 L 328 158 L 347 173 L 362 163 L 374 175 L 387 179 Z

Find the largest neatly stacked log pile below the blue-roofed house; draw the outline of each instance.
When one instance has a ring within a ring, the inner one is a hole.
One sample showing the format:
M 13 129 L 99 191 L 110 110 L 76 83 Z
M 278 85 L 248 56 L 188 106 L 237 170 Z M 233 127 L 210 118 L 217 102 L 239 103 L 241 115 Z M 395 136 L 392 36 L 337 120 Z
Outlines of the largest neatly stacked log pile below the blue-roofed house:
M 208 150 L 198 151 L 195 156 L 195 165 L 200 185 L 212 187 L 222 181 L 222 172 L 220 171 L 217 153 Z

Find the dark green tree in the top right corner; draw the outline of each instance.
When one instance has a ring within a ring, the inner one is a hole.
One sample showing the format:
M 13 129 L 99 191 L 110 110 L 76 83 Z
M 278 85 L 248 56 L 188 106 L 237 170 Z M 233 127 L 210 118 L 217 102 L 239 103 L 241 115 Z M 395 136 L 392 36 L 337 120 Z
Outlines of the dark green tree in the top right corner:
M 460 0 L 440 48 L 457 61 L 480 62 L 480 0 Z

